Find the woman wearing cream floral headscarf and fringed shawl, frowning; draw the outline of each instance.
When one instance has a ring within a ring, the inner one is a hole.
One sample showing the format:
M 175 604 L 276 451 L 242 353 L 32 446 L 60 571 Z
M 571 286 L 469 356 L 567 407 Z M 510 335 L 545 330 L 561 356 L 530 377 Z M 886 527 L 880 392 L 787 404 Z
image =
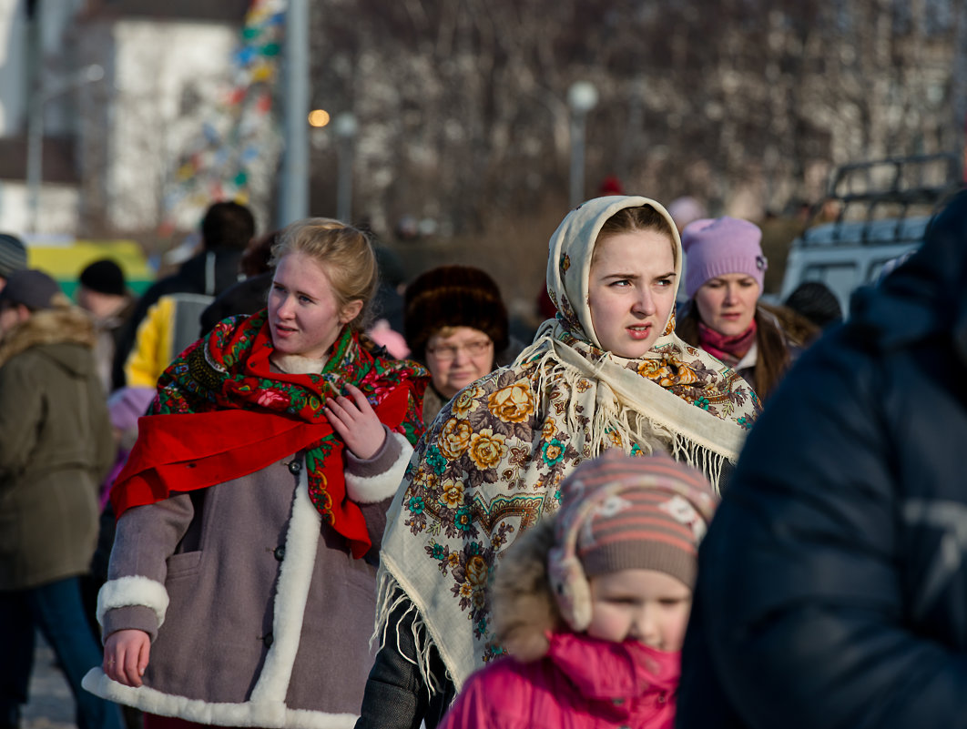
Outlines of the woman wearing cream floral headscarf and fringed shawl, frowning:
M 547 262 L 557 318 L 513 364 L 444 406 L 390 510 L 382 647 L 357 729 L 435 726 L 469 674 L 501 652 L 490 569 L 558 508 L 579 462 L 610 448 L 667 451 L 720 483 L 758 401 L 674 335 L 681 267 L 675 224 L 648 198 L 590 200 L 558 227 Z

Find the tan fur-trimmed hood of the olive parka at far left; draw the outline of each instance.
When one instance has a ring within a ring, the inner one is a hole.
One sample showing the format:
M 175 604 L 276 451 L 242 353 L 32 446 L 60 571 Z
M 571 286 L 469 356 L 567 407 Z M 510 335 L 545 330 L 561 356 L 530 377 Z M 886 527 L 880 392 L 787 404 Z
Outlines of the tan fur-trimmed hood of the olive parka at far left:
M 57 306 L 35 311 L 0 338 L 0 367 L 16 355 L 41 344 L 80 344 L 93 349 L 94 324 L 77 306 Z M 72 372 L 86 373 L 94 364 L 90 357 L 78 356 L 73 347 L 58 347 L 50 356 Z

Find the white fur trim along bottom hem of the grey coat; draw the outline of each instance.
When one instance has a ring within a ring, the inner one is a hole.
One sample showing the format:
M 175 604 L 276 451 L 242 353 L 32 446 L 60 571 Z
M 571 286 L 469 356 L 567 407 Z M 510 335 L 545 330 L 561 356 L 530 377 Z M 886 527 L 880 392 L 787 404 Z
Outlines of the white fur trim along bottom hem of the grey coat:
M 199 724 L 218 726 L 255 726 L 266 729 L 352 729 L 357 714 L 327 714 L 304 709 L 288 709 L 280 701 L 247 701 L 241 704 L 211 703 L 185 696 L 161 693 L 156 688 L 118 684 L 92 668 L 81 685 L 109 701 L 134 706 L 143 712 L 178 716 Z

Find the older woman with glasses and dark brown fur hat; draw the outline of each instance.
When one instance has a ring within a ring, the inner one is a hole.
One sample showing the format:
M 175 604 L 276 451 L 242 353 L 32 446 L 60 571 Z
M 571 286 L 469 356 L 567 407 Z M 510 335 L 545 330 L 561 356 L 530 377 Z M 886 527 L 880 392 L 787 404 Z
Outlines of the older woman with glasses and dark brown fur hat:
M 403 329 L 411 356 L 432 377 L 424 396 L 425 423 L 454 394 L 493 370 L 509 341 L 500 289 L 471 266 L 440 266 L 407 286 Z

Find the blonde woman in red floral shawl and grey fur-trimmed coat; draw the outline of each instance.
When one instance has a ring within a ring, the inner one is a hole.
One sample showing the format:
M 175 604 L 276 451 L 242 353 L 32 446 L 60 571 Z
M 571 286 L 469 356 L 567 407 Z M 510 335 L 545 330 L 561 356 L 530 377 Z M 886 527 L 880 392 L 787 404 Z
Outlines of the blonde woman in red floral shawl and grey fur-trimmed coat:
M 287 227 L 268 308 L 175 360 L 111 500 L 103 670 L 85 686 L 147 729 L 352 726 L 376 556 L 427 381 L 361 338 L 366 235 Z

